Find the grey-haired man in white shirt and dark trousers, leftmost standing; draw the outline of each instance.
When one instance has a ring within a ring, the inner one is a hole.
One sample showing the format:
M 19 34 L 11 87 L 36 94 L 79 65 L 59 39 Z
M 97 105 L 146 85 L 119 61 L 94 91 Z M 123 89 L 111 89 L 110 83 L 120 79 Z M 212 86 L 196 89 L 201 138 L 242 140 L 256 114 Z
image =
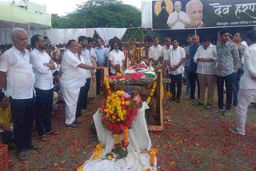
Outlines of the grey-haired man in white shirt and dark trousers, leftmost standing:
M 36 107 L 34 73 L 30 54 L 26 50 L 26 30 L 14 28 L 13 47 L 0 58 L 0 84 L 10 97 L 11 117 L 14 122 L 14 142 L 19 160 L 27 160 L 26 149 L 42 149 L 32 142 Z

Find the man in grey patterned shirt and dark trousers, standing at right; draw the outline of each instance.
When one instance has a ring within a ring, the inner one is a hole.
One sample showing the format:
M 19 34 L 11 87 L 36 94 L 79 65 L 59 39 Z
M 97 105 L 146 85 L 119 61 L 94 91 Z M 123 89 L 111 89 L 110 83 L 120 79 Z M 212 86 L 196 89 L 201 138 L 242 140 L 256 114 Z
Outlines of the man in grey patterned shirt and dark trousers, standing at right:
M 230 40 L 230 30 L 220 31 L 221 42 L 217 45 L 217 85 L 218 85 L 218 111 L 223 111 L 223 86 L 226 85 L 226 111 L 224 116 L 230 116 L 232 103 L 232 83 L 234 73 L 240 62 L 238 48 Z

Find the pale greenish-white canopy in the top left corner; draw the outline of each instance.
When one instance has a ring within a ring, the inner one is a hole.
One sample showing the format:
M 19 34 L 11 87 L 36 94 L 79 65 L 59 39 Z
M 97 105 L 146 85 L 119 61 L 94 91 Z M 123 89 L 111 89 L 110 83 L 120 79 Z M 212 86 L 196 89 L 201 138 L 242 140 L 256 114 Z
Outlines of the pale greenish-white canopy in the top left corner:
M 35 13 L 15 6 L 11 2 L 0 2 L 0 29 L 22 27 L 25 29 L 49 28 L 51 15 Z

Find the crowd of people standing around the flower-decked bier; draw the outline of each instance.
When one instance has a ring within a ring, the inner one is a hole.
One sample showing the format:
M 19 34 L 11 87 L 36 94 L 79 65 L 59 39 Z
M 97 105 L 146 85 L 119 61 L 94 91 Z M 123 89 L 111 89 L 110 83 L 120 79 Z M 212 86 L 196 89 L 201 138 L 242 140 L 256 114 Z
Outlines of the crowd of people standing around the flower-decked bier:
M 87 108 L 90 82 L 101 93 L 103 67 L 115 75 L 139 62 L 161 65 L 170 78 L 170 101 L 181 103 L 182 81 L 191 105 L 203 105 L 230 116 L 237 111 L 237 127 L 232 133 L 245 135 L 246 112 L 256 97 L 256 33 L 230 38 L 230 30 L 218 32 L 217 45 L 205 35 L 187 35 L 187 45 L 179 38 L 165 38 L 164 46 L 154 37 L 152 44 L 125 44 L 117 38 L 104 45 L 81 35 L 64 45 L 50 45 L 42 35 L 32 36 L 28 46 L 26 30 L 14 28 L 13 45 L 1 46 L 0 57 L 0 133 L 2 142 L 14 141 L 19 160 L 27 160 L 26 150 L 42 149 L 32 141 L 35 121 L 38 140 L 50 141 L 58 135 L 51 115 L 54 105 L 65 102 L 66 127 L 77 128 L 82 109 Z M 202 44 L 200 43 L 202 42 Z M 118 66 L 118 67 L 117 67 Z M 185 79 L 183 79 L 185 78 Z M 225 83 L 225 85 L 224 85 Z M 214 109 L 214 89 L 218 89 L 218 109 Z M 206 89 L 208 90 L 205 98 Z M 226 89 L 226 109 L 224 90 Z

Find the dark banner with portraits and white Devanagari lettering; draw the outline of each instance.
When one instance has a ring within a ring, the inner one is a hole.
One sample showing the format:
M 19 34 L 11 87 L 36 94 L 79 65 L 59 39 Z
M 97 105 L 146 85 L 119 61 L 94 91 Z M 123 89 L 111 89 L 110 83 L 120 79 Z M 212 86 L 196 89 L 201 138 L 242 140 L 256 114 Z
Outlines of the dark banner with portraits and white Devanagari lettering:
M 153 0 L 152 30 L 256 26 L 255 0 Z

